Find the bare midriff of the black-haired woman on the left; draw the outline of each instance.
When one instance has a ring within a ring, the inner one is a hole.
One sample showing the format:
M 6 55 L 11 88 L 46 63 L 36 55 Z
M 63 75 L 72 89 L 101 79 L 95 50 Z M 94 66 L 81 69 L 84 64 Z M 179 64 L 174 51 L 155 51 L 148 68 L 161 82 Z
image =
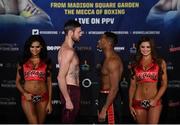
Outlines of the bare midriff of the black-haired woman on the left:
M 24 89 L 32 94 L 42 94 L 47 91 L 45 81 L 25 81 Z

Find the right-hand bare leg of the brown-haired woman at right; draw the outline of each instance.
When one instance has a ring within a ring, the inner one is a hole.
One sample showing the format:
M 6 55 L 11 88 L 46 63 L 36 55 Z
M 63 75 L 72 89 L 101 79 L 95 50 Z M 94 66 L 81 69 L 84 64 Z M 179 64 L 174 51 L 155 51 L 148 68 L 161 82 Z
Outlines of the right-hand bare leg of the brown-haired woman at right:
M 148 112 L 148 123 L 149 124 L 158 124 L 161 110 L 162 110 L 162 105 L 150 107 L 149 112 Z

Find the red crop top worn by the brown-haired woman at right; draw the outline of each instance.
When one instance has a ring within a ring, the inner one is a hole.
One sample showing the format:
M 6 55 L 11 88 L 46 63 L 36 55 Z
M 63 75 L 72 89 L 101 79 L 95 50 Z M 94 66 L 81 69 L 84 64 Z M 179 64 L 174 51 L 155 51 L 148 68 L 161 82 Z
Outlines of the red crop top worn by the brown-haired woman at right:
M 158 82 L 158 71 L 159 66 L 157 63 L 152 61 L 149 64 L 148 69 L 144 70 L 142 65 L 135 67 L 135 76 L 138 83 L 157 83 Z

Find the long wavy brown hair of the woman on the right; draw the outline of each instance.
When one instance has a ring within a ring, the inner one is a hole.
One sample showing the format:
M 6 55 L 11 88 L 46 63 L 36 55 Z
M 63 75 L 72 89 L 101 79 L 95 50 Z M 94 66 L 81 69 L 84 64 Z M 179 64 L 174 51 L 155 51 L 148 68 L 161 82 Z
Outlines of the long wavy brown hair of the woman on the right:
M 148 36 L 142 36 L 138 43 L 136 44 L 136 49 L 137 49 L 137 52 L 136 52 L 136 55 L 135 55 L 135 58 L 134 58 L 134 62 L 132 63 L 132 74 L 131 74 L 131 77 L 133 78 L 133 76 L 135 75 L 135 70 L 134 68 L 136 66 L 139 66 L 140 65 L 140 62 L 141 62 L 141 59 L 142 59 L 142 53 L 140 51 L 140 45 L 143 43 L 143 42 L 149 42 L 150 44 L 150 48 L 151 48 L 151 55 L 152 55 L 152 59 L 154 60 L 155 63 L 158 64 L 159 66 L 159 74 L 158 74 L 158 78 L 159 80 L 162 79 L 162 74 L 163 74 L 163 70 L 162 70 L 162 67 L 161 67 L 161 64 L 162 64 L 162 59 L 160 57 L 157 56 L 157 53 L 156 53 L 156 48 L 155 48 L 155 44 L 154 44 L 154 40 L 151 39 L 150 37 Z

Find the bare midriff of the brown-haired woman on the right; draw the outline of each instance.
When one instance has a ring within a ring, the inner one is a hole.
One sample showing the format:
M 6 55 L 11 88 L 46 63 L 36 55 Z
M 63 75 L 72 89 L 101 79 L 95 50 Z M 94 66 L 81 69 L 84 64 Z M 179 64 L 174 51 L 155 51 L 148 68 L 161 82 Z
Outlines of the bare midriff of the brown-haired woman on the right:
M 152 99 L 158 92 L 157 83 L 137 83 L 135 99 Z

